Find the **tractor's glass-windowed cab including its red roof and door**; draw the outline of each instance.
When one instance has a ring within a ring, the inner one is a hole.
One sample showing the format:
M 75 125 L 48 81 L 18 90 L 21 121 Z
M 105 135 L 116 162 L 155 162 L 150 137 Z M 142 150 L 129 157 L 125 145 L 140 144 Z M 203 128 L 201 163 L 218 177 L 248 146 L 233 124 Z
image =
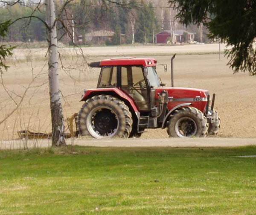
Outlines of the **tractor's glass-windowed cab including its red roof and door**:
M 111 58 L 101 61 L 97 88 L 117 87 L 129 95 L 141 112 L 155 106 L 155 89 L 160 87 L 154 58 Z

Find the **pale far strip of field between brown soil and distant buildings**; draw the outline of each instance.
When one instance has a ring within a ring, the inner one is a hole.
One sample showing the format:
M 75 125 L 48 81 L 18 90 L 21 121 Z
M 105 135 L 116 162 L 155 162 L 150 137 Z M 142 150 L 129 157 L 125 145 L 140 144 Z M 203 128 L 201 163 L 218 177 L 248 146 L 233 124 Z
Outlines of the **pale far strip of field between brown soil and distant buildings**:
M 227 47 L 221 44 L 221 52 Z M 172 55 L 180 54 L 204 54 L 219 52 L 219 44 L 204 44 L 204 45 L 151 45 L 151 46 L 96 46 L 96 47 L 81 47 L 81 48 L 61 48 L 59 52 L 64 56 L 84 55 L 86 58 L 97 56 L 131 56 L 131 55 Z M 47 49 L 15 49 L 13 59 L 27 60 L 43 58 L 47 53 Z

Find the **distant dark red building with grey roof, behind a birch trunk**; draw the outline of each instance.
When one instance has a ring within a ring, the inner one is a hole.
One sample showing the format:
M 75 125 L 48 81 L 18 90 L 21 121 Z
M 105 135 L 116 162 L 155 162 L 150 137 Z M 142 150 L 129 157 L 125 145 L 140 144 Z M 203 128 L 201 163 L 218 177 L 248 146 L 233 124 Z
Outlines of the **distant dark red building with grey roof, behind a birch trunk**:
M 187 41 L 194 41 L 195 34 L 185 31 L 185 30 L 176 30 L 175 31 L 175 43 L 182 43 L 185 42 L 184 38 L 184 32 L 187 33 Z M 159 32 L 156 35 L 156 43 L 167 43 L 167 39 L 171 37 L 171 31 L 170 30 L 164 30 L 162 32 Z

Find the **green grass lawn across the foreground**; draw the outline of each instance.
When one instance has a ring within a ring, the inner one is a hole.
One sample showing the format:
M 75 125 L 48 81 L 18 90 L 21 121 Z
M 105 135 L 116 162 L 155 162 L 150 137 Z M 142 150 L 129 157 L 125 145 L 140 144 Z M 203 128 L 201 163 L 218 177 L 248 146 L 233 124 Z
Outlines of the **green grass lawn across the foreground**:
M 256 147 L 0 151 L 0 214 L 256 214 Z

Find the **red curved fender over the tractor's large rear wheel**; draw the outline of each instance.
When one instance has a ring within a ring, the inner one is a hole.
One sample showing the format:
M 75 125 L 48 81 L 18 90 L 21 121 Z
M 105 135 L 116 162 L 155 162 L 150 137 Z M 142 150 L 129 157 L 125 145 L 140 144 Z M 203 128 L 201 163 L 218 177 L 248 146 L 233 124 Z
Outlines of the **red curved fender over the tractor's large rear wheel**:
M 136 116 L 136 119 L 139 120 L 140 111 L 135 105 L 133 99 L 130 96 L 128 96 L 126 93 L 124 93 L 122 90 L 118 88 L 96 88 L 96 89 L 84 90 L 84 95 L 82 96 L 81 101 L 85 102 L 87 99 L 90 99 L 91 97 L 96 95 L 111 95 L 122 100 L 123 102 L 125 102 L 125 105 L 129 107 L 132 115 Z

